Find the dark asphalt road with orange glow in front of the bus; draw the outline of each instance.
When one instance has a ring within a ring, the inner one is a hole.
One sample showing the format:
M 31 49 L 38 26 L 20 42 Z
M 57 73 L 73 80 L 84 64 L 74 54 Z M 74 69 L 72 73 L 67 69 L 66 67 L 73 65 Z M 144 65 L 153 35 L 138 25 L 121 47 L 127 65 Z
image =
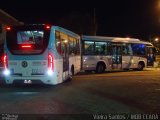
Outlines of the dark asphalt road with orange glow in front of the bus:
M 0 113 L 159 113 L 160 71 L 79 73 L 56 86 L 0 86 Z

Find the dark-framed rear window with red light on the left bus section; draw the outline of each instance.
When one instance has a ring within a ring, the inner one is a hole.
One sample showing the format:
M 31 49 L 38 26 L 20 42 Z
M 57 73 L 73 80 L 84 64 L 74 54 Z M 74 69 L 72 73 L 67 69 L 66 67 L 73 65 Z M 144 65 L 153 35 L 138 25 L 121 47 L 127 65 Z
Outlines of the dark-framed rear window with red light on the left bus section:
M 48 38 L 43 30 L 14 30 L 7 32 L 7 47 L 13 54 L 40 54 Z

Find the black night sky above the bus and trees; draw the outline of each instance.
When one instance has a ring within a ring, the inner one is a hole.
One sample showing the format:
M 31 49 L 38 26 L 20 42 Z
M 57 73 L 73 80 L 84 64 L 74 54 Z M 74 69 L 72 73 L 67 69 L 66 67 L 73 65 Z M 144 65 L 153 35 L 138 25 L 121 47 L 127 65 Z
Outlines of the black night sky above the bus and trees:
M 0 6 L 25 23 L 52 24 L 56 24 L 60 18 L 72 12 L 93 15 L 95 8 L 97 35 L 143 40 L 160 36 L 159 0 L 67 1 L 5 0 Z

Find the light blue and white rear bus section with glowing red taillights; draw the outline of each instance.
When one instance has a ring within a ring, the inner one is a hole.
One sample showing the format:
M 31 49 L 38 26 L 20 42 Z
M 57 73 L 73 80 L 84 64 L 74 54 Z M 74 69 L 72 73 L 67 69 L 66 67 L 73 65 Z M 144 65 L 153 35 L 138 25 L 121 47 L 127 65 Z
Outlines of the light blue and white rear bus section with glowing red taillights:
M 6 84 L 56 85 L 80 71 L 80 36 L 50 25 L 7 27 L 3 61 Z

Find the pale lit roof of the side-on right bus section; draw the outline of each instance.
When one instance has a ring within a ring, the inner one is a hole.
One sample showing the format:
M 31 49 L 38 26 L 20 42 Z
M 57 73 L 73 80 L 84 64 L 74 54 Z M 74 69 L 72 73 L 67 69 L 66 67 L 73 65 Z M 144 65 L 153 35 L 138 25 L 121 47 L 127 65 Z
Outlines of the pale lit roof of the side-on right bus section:
M 142 43 L 142 44 L 148 44 L 152 45 L 149 42 L 141 41 L 139 39 L 135 38 L 121 38 L 121 37 L 104 37 L 104 36 L 87 36 L 82 35 L 82 40 L 88 40 L 88 41 L 108 41 L 108 42 L 118 42 L 118 43 Z

